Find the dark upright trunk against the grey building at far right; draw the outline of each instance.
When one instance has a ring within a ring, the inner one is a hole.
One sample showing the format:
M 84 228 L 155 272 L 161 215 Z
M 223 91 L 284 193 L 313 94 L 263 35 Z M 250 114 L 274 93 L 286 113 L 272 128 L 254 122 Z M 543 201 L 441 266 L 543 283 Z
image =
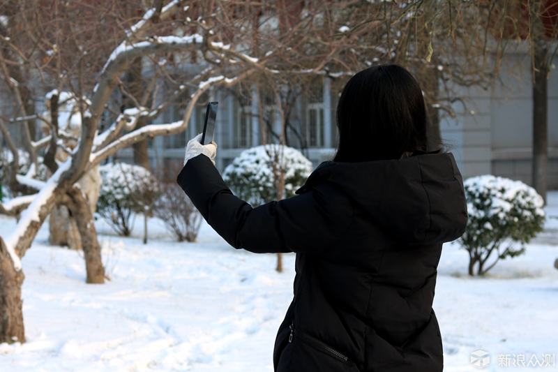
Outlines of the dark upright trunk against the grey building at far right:
M 548 182 L 548 87 L 547 48 L 544 41 L 534 43 L 533 74 L 533 187 L 546 203 Z

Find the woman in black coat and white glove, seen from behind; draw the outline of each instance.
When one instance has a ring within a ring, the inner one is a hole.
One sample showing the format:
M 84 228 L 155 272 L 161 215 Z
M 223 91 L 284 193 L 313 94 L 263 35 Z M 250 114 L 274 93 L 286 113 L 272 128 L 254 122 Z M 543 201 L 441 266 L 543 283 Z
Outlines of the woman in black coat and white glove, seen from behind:
M 432 300 L 442 243 L 467 224 L 461 174 L 451 154 L 427 153 L 423 94 L 400 66 L 354 75 L 337 125 L 335 158 L 294 198 L 252 209 L 196 140 L 178 183 L 235 248 L 296 252 L 276 371 L 442 371 Z

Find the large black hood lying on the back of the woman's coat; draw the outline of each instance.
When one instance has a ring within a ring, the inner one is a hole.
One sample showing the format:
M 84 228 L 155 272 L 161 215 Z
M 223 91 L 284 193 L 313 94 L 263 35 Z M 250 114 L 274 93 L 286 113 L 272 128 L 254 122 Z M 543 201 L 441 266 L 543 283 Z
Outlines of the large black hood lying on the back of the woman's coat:
M 463 180 L 451 153 L 318 166 L 296 193 L 322 182 L 345 191 L 377 225 L 408 244 L 457 239 L 467 226 Z

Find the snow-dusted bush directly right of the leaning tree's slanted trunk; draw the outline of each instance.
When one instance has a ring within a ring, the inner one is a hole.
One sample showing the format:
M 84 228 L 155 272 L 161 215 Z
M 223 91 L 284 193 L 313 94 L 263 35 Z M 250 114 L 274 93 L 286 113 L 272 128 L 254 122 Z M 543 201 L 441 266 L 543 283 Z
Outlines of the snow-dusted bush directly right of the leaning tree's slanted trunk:
M 109 163 L 99 167 L 102 183 L 97 202 L 97 213 L 122 236 L 132 232 L 133 212 L 142 211 L 142 204 L 158 194 L 158 181 L 149 170 L 139 165 Z

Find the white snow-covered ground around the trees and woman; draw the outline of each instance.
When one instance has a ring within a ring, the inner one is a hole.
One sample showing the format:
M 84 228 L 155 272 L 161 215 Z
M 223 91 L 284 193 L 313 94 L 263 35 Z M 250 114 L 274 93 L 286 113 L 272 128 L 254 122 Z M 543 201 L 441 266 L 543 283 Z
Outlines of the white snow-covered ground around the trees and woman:
M 558 192 L 548 214 L 558 217 Z M 15 221 L 0 217 L 0 235 Z M 47 226 L 23 262 L 27 343 L 0 345 L 0 371 L 273 371 L 276 329 L 292 299 L 294 255 L 285 272 L 275 255 L 230 248 L 208 225 L 197 243 L 176 243 L 160 221 L 142 221 L 134 237 L 97 226 L 110 281 L 87 285 L 82 255 L 47 243 Z M 471 352 L 484 350 L 484 371 L 555 367 L 498 366 L 509 359 L 558 355 L 558 219 L 487 278 L 469 278 L 467 253 L 446 244 L 434 308 L 444 339 L 446 371 L 474 371 Z

